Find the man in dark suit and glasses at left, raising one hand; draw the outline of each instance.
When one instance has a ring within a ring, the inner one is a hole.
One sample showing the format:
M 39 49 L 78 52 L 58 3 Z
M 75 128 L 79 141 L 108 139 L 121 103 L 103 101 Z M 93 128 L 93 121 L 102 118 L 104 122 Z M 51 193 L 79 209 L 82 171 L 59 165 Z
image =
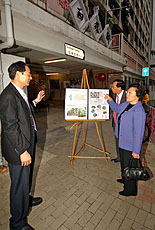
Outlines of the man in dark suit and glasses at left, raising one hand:
M 41 197 L 30 196 L 36 122 L 33 106 L 23 88 L 29 85 L 32 76 L 29 67 L 21 61 L 13 63 L 8 72 L 11 82 L 0 95 L 0 119 L 2 155 L 8 162 L 11 179 L 10 230 L 32 230 L 27 223 L 29 207 L 42 202 Z M 33 104 L 44 96 L 44 91 L 40 91 Z

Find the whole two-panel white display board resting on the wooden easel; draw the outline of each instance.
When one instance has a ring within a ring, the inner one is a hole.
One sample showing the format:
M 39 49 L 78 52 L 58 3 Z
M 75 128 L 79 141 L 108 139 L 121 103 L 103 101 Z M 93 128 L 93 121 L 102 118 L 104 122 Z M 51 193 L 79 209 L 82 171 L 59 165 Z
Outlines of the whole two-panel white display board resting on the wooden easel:
M 104 99 L 108 89 L 66 89 L 66 120 L 109 119 L 109 105 Z

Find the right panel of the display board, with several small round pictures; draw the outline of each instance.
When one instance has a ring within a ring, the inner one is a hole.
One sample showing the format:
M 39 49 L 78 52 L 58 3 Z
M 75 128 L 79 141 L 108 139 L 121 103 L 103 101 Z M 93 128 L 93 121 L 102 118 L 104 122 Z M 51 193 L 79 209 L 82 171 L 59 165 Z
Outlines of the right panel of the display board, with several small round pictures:
M 104 99 L 105 94 L 109 95 L 108 89 L 89 89 L 88 119 L 109 119 L 109 105 Z

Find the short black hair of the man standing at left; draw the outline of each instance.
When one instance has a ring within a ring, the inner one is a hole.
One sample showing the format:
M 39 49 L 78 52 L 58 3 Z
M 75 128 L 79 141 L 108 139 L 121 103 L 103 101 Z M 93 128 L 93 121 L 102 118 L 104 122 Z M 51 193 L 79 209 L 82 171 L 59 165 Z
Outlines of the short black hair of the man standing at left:
M 27 66 L 26 63 L 22 61 L 14 62 L 13 64 L 11 64 L 8 68 L 9 77 L 13 80 L 17 71 L 25 72 L 25 66 Z

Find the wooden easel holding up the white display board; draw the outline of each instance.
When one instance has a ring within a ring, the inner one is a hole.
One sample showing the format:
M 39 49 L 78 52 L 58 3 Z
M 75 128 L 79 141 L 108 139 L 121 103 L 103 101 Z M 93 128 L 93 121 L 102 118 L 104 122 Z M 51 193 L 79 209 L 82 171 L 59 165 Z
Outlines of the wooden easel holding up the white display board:
M 86 72 L 86 69 L 83 70 L 83 75 L 82 75 L 82 81 L 81 81 L 81 89 L 84 88 L 86 89 L 86 86 L 87 88 L 89 89 L 89 83 L 88 83 L 88 77 L 87 77 L 87 72 Z M 97 124 L 97 120 L 91 120 L 91 121 L 94 121 L 95 122 L 95 125 L 96 125 L 96 131 L 97 131 L 97 134 L 98 134 L 98 137 L 99 137 L 99 141 L 100 141 L 100 144 L 101 144 L 101 147 L 102 149 L 99 149 L 93 145 L 90 145 L 88 143 L 86 143 L 86 136 L 85 136 L 85 122 L 86 121 L 90 121 L 90 120 L 80 120 L 80 121 L 76 121 L 74 123 L 74 125 L 71 127 L 71 129 L 76 126 L 75 128 L 75 135 L 74 135 L 74 142 L 73 142 L 73 149 L 72 149 L 72 156 L 68 156 L 70 159 L 70 164 L 73 165 L 73 161 L 74 161 L 74 158 L 91 158 L 91 159 L 105 159 L 106 160 L 106 163 L 108 164 L 108 159 L 110 159 L 111 157 L 108 157 L 107 155 L 109 155 L 108 152 L 105 152 L 105 149 L 104 149 L 104 145 L 103 145 L 103 142 L 102 142 L 102 139 L 101 139 L 101 136 L 100 136 L 100 132 L 99 132 L 99 128 L 98 128 L 98 124 Z M 99 120 L 99 121 L 105 121 L 105 120 Z M 79 123 L 83 123 L 83 144 L 81 146 L 81 148 L 75 153 L 75 146 L 76 146 L 76 137 L 77 137 L 77 131 L 78 131 L 78 125 Z M 77 154 L 81 151 L 81 150 L 85 150 L 85 147 L 86 146 L 89 146 L 93 149 L 96 149 L 100 152 L 102 152 L 104 154 L 103 157 L 86 157 L 86 156 L 77 156 Z

